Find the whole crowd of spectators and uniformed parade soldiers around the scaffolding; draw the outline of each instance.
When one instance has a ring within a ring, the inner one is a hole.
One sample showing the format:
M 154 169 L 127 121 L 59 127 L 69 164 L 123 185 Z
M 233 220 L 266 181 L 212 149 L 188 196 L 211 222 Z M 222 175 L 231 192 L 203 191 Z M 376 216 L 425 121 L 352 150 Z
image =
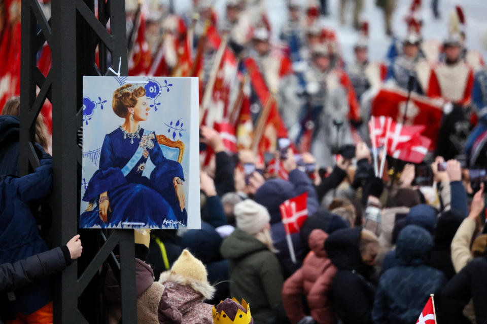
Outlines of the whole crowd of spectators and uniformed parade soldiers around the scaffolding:
M 461 7 L 440 43 L 422 38 L 412 1 L 406 37 L 370 62 L 356 0 L 356 60 L 345 62 L 322 24 L 326 1 L 290 0 L 278 44 L 262 3 L 229 0 L 221 20 L 204 0 L 185 15 L 127 5 L 130 73 L 199 76 L 202 111 L 201 229 L 135 230 L 138 322 L 409 324 L 433 294 L 438 323 L 487 323 L 487 68 L 465 47 Z M 395 1 L 378 3 L 392 34 Z M 433 129 L 421 163 L 369 137 L 383 89 L 407 95 L 386 98 L 397 125 Z M 434 107 L 437 119 L 416 118 Z M 52 250 L 44 240 L 45 119 L 40 167 L 19 177 L 19 98 L 0 116 L 0 322 L 52 322 L 49 276 L 83 257 L 79 235 Z M 303 194 L 290 233 L 282 206 Z M 107 267 L 100 297 L 116 323 L 120 282 Z

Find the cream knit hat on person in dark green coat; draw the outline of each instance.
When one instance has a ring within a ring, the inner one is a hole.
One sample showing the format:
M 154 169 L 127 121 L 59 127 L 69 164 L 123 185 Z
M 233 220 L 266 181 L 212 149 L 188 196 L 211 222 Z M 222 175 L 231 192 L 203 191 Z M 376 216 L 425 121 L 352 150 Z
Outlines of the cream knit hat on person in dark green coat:
M 267 209 L 254 200 L 246 199 L 233 208 L 237 227 L 254 235 L 264 229 L 270 222 Z

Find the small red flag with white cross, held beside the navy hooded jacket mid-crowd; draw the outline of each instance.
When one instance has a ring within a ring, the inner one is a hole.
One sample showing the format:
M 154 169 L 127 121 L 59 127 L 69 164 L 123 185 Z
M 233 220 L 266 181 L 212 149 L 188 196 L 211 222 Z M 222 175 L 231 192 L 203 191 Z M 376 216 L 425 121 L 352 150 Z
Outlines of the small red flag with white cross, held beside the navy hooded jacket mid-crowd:
M 308 217 L 308 193 L 288 199 L 279 206 L 286 234 L 299 233 L 301 225 Z

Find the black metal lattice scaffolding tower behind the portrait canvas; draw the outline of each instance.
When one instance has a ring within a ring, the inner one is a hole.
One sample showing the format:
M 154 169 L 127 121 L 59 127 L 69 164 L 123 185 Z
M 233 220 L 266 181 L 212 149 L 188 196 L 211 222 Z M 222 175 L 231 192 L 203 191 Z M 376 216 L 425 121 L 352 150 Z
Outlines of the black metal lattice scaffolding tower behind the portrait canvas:
M 112 57 L 115 70 L 121 58 L 121 74 L 128 72 L 125 2 L 98 0 L 96 4 L 98 17 L 94 0 L 52 0 L 47 20 L 38 0 L 22 0 L 19 171 L 25 175 L 39 165 L 32 146 L 34 125 L 47 99 L 52 103 L 54 246 L 65 244 L 79 232 L 82 151 L 77 146 L 77 131 L 82 126 L 82 77 L 108 74 Z M 46 42 L 52 66 L 43 75 L 37 67 L 37 54 Z M 55 281 L 54 322 L 106 322 L 100 269 L 108 262 L 120 278 L 122 321 L 136 323 L 133 231 L 114 230 L 108 238 L 100 230 L 81 231 L 81 235 L 82 258 Z M 117 246 L 120 260 L 113 254 Z

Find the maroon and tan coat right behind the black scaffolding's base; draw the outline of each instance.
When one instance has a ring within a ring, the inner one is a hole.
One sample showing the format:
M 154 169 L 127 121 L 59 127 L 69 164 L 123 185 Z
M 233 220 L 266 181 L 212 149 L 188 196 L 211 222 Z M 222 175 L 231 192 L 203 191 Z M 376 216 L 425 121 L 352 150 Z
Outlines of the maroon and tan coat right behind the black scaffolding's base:
M 166 289 L 154 282 L 150 265 L 135 259 L 137 293 L 137 322 L 152 324 L 179 324 L 182 314 L 168 300 Z M 116 324 L 122 318 L 120 283 L 109 268 L 105 280 L 105 297 L 109 304 L 109 322 Z

